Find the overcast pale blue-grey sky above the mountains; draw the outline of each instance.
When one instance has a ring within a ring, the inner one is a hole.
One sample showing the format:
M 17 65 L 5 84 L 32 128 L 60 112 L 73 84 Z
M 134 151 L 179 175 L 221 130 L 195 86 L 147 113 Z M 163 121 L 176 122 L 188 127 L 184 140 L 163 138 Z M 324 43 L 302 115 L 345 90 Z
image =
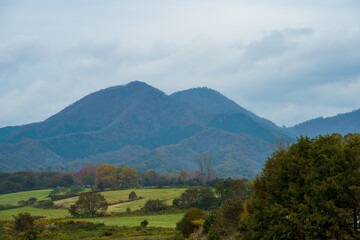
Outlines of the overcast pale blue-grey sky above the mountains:
M 279 126 L 360 108 L 358 0 L 0 0 L 0 127 L 139 80 Z

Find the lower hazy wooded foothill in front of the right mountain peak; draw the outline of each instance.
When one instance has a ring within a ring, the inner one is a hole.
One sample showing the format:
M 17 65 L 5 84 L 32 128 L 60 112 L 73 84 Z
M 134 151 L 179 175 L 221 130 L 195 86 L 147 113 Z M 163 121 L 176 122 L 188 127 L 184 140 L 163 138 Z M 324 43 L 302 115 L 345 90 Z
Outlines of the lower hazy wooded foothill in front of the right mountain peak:
M 272 152 L 269 143 L 243 133 L 224 132 L 206 128 L 175 145 L 156 148 L 132 160 L 136 168 L 146 171 L 156 168 L 161 172 L 197 169 L 194 155 L 213 156 L 214 170 L 221 177 L 255 177 Z M 130 164 L 130 162 L 129 162 Z

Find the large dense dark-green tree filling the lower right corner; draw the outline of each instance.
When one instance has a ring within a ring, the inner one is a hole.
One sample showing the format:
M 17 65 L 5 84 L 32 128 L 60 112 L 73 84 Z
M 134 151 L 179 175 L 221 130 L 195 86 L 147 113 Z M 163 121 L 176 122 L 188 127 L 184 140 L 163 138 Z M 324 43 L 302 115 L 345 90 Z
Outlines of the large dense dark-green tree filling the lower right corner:
M 246 239 L 353 239 L 359 234 L 360 135 L 301 137 L 254 182 Z

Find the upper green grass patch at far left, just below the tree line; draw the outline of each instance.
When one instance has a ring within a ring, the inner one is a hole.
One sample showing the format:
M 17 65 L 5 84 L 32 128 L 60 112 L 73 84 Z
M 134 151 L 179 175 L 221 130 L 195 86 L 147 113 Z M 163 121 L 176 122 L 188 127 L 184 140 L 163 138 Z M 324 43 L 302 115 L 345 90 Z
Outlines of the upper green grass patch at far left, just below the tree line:
M 36 198 L 39 200 L 50 199 L 47 196 L 50 194 L 52 189 L 42 189 L 42 190 L 34 190 L 34 191 L 26 191 L 26 192 L 18 192 L 18 193 L 9 193 L 9 194 L 1 194 L 0 195 L 0 204 L 9 204 L 12 206 L 18 205 L 18 201 L 20 200 L 28 200 L 29 198 Z

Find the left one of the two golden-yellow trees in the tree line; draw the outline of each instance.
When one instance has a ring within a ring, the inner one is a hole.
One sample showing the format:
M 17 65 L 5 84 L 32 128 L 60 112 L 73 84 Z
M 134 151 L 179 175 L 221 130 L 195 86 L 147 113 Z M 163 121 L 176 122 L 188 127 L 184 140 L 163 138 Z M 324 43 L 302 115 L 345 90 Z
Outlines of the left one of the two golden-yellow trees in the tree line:
M 100 164 L 96 168 L 95 184 L 99 185 L 101 182 L 104 187 L 115 187 L 117 185 L 116 172 L 115 166 L 107 163 Z

